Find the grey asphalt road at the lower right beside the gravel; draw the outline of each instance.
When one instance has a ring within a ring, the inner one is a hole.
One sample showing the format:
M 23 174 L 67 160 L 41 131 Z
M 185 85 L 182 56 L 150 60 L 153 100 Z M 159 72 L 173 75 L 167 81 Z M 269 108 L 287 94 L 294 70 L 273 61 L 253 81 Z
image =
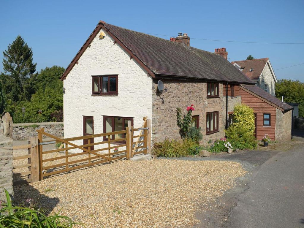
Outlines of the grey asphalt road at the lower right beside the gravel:
M 303 144 L 262 164 L 237 196 L 226 228 L 304 227 Z

